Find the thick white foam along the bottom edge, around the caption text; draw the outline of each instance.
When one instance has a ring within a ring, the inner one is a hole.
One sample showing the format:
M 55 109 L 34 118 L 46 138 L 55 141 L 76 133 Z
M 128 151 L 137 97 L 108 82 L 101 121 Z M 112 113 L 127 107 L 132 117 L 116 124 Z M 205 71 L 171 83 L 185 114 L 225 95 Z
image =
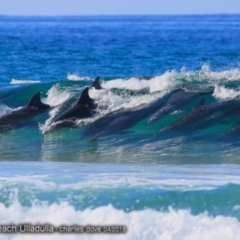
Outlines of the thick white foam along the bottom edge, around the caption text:
M 166 212 L 155 210 L 142 210 L 128 212 L 130 209 L 117 210 L 112 205 L 87 208 L 82 211 L 75 210 L 69 203 L 34 204 L 23 207 L 16 200 L 9 207 L 0 203 L 0 223 L 6 224 L 51 224 L 55 227 L 61 225 L 91 226 L 126 226 L 127 233 L 118 234 L 1 234 L 2 240 L 28 240 L 28 239 L 184 239 L 184 240 L 212 240 L 240 239 L 240 223 L 236 218 L 216 216 L 207 213 L 192 215 L 188 210 L 175 210 L 169 207 Z

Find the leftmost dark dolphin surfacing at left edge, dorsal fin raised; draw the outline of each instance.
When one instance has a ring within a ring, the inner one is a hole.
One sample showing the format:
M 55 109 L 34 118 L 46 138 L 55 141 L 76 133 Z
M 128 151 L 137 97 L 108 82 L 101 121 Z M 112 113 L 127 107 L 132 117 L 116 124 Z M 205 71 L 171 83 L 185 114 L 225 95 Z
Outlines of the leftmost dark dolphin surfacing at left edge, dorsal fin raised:
M 27 121 L 29 118 L 41 114 L 49 108 L 50 106 L 48 104 L 41 102 L 40 92 L 38 92 L 32 97 L 26 106 L 0 116 L 0 124 L 13 124 Z

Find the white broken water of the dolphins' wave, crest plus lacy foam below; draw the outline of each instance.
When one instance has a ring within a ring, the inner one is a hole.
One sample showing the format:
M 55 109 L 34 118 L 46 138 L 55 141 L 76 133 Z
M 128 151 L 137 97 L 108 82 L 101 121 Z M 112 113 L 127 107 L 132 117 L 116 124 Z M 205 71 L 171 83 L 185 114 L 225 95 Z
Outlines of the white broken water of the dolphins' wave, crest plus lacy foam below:
M 68 74 L 68 79 L 72 80 L 89 80 L 89 77 L 80 77 L 77 74 Z M 212 96 L 216 100 L 236 99 L 239 97 L 239 90 L 231 86 L 229 83 L 237 83 L 240 80 L 240 71 L 238 69 L 230 69 L 224 71 L 212 71 L 210 66 L 203 65 L 200 70 L 187 71 L 182 68 L 181 71 L 166 71 L 160 76 L 149 79 L 143 77 L 130 77 L 128 79 L 116 78 L 102 80 L 102 90 L 90 88 L 89 95 L 93 98 L 97 105 L 97 114 L 95 117 L 88 119 L 80 119 L 75 122 L 76 126 L 84 126 L 90 124 L 97 119 L 121 109 L 136 109 L 138 107 L 150 104 L 156 99 L 163 98 L 173 90 L 182 86 L 190 86 L 191 91 L 201 91 L 206 87 L 212 87 L 214 90 Z M 91 85 L 91 84 L 89 84 Z M 40 125 L 40 130 L 45 133 L 51 130 L 51 121 L 63 112 L 62 103 L 69 101 L 70 98 L 80 96 L 82 90 L 86 86 L 74 84 L 61 86 L 54 85 L 48 91 L 46 102 L 53 109 L 46 120 L 45 124 Z M 170 115 L 184 114 L 181 109 L 175 109 Z

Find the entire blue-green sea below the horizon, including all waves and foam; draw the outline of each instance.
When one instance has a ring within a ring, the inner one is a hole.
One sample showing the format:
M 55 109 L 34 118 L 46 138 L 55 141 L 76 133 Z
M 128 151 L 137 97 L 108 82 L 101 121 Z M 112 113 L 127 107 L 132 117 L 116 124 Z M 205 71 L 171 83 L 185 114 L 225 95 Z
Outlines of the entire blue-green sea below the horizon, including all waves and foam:
M 239 239 L 239 39 L 240 15 L 1 16 L 0 118 L 51 109 L 0 126 L 0 225 L 127 232 L 0 239 Z

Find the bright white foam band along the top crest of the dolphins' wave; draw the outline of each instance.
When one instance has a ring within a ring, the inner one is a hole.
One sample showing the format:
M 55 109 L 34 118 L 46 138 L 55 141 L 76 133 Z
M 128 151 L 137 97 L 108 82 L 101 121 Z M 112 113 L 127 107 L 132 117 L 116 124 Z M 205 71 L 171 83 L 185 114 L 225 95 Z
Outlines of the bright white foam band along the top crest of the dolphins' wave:
M 103 81 L 102 86 L 105 89 L 129 89 L 143 90 L 148 89 L 150 93 L 171 90 L 181 86 L 181 84 L 198 83 L 204 85 L 213 85 L 218 83 L 227 83 L 240 80 L 240 70 L 230 69 L 223 71 L 212 71 L 209 65 L 203 65 L 200 70 L 187 71 L 182 68 L 180 72 L 172 70 L 166 71 L 162 75 L 153 77 L 149 80 L 131 77 L 129 79 L 114 79 L 111 81 Z

